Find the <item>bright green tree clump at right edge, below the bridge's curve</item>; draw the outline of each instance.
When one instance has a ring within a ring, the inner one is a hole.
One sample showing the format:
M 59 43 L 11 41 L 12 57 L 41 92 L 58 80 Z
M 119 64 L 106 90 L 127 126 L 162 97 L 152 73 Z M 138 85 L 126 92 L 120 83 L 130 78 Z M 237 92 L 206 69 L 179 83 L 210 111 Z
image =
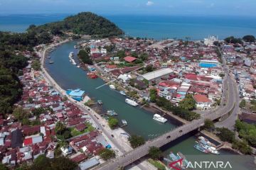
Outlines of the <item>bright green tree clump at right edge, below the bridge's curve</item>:
M 246 140 L 250 146 L 256 147 L 256 125 L 236 120 L 235 129 L 238 131 L 239 137 Z

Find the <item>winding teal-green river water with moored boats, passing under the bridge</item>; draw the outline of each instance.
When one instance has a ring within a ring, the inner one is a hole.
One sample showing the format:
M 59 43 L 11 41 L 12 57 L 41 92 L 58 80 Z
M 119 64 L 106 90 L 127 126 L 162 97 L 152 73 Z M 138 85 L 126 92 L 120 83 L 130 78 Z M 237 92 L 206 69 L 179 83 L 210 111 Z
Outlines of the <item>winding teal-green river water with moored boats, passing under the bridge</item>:
M 74 49 L 76 42 L 67 42 L 57 50 L 50 54 L 51 60 L 54 64 L 48 64 L 46 60 L 46 69 L 49 74 L 55 79 L 55 81 L 63 89 L 77 89 L 85 90 L 85 93 L 93 98 L 95 101 L 102 100 L 103 108 L 105 110 L 114 110 L 117 118 L 120 120 L 127 120 L 128 125 L 124 127 L 130 135 L 137 134 L 143 136 L 146 140 L 157 137 L 169 130 L 176 128 L 178 124 L 174 120 L 170 120 L 167 123 L 158 123 L 153 120 L 153 114 L 142 108 L 134 108 L 124 102 L 125 97 L 119 94 L 118 91 L 114 91 L 109 86 L 103 86 L 100 89 L 96 89 L 97 86 L 105 84 L 102 79 L 89 79 L 86 72 L 80 68 L 75 67 L 69 62 L 68 55 L 71 51 L 77 54 L 78 50 Z M 168 155 L 170 151 L 182 152 L 186 155 L 205 155 L 202 152 L 193 148 L 195 145 L 196 137 L 194 133 L 185 135 L 180 139 L 171 142 L 169 145 L 164 146 L 164 154 Z M 220 151 L 221 154 L 233 154 L 232 152 Z M 239 164 L 247 165 L 247 160 L 234 158 L 234 162 L 240 162 Z M 252 157 L 250 158 L 252 162 Z M 241 168 L 240 168 L 241 169 Z M 248 168 L 245 168 L 248 169 Z

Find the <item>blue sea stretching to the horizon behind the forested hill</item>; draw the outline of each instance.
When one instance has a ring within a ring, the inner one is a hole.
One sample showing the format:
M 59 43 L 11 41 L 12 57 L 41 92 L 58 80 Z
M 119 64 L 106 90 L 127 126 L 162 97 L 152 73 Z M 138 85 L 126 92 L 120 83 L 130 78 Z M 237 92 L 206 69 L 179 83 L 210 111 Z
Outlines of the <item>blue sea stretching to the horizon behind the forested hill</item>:
M 41 25 L 60 21 L 70 16 L 61 14 L 12 14 L 0 16 L 0 30 L 22 33 L 31 24 Z M 126 35 L 140 38 L 166 38 L 203 40 L 209 35 L 220 40 L 233 35 L 256 35 L 256 18 L 248 16 L 145 16 L 145 15 L 103 15 L 110 19 Z

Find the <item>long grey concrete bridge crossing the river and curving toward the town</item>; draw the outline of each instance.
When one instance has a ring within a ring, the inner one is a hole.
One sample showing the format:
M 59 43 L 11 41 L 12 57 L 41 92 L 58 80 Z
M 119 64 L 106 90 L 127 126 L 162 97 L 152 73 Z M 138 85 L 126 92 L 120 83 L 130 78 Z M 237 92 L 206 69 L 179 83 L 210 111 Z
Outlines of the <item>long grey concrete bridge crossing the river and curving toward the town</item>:
M 215 111 L 210 111 L 201 115 L 201 118 L 198 120 L 193 120 L 189 123 L 186 123 L 185 125 L 181 125 L 175 130 L 171 130 L 166 132 L 164 135 L 156 137 L 154 140 L 149 140 L 144 145 L 137 147 L 130 152 L 126 152 L 121 157 L 117 157 L 116 159 L 112 159 L 109 162 L 100 164 L 99 166 L 95 167 L 95 169 L 114 170 L 118 169 L 119 167 L 132 164 L 132 162 L 135 162 L 138 159 L 146 156 L 146 154 L 149 153 L 150 147 L 162 147 L 169 142 L 176 140 L 178 137 L 186 135 L 188 132 L 200 128 L 204 125 L 204 121 L 206 119 L 216 120 L 221 118 L 223 115 L 230 113 L 230 111 L 232 111 L 235 106 L 235 102 L 237 101 L 237 91 L 235 90 L 235 82 L 228 76 L 228 68 L 226 65 L 224 66 L 224 70 L 226 75 L 226 79 L 223 81 L 223 86 L 225 87 L 224 94 L 225 96 L 228 96 L 228 100 L 226 100 L 225 106 L 220 106 L 220 108 Z

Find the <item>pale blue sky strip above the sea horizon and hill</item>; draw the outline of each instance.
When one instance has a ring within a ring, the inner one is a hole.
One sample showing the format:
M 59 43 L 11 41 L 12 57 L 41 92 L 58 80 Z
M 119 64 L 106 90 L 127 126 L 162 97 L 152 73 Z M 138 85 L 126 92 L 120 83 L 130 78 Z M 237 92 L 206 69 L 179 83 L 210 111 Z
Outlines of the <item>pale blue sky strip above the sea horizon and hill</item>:
M 256 16 L 256 0 L 0 0 L 0 14 L 98 14 Z

